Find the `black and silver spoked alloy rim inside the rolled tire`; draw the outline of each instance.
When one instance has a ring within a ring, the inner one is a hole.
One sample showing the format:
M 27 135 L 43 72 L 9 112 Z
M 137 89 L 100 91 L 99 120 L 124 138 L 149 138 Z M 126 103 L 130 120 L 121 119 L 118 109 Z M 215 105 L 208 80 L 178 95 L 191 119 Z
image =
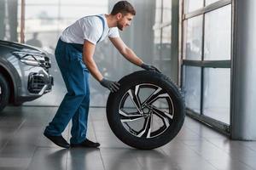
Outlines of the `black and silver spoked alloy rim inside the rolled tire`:
M 129 88 L 119 103 L 120 122 L 137 138 L 151 139 L 164 133 L 174 114 L 171 96 L 151 83 Z

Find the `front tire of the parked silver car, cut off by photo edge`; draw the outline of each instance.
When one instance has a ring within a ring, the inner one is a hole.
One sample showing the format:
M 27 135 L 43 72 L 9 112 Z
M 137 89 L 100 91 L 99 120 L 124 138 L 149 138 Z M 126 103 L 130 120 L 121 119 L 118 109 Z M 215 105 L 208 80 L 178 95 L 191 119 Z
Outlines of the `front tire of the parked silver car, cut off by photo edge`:
M 9 103 L 9 84 L 0 73 L 0 112 Z

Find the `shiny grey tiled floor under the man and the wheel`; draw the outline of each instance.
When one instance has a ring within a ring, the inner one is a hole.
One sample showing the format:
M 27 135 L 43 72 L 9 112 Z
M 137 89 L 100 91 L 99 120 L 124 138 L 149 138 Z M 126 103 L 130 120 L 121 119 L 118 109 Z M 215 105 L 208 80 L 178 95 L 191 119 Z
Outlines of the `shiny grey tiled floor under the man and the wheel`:
M 0 115 L 1 170 L 249 170 L 256 169 L 256 142 L 231 141 L 186 117 L 169 144 L 136 150 L 117 139 L 105 109 L 90 109 L 88 136 L 100 149 L 61 149 L 42 135 L 56 107 L 8 107 Z M 70 124 L 63 136 L 69 135 Z

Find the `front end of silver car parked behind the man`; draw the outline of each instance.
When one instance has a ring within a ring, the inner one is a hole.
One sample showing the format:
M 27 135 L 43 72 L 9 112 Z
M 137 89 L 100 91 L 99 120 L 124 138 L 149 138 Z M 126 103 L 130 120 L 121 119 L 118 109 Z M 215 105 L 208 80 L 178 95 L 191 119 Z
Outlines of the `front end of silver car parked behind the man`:
M 41 49 L 0 40 L 0 111 L 49 93 L 54 79 L 50 59 Z

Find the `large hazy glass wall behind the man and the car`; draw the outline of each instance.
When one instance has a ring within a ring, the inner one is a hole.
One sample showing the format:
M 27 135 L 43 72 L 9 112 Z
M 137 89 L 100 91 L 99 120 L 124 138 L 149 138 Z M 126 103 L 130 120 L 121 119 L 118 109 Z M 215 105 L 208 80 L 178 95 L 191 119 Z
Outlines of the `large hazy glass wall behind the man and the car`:
M 18 3 L 19 26 L 20 1 Z M 43 48 L 49 53 L 55 86 L 51 93 L 24 105 L 60 105 L 66 88 L 55 63 L 54 50 L 61 31 L 85 15 L 110 13 L 113 4 L 117 2 L 117 0 L 26 0 L 25 42 Z M 133 0 L 130 3 L 136 8 L 137 14 L 130 27 L 125 31 L 119 31 L 120 37 L 144 62 L 156 65 L 171 77 L 171 1 Z M 19 30 L 20 27 L 18 27 Z M 20 32 L 18 33 L 20 37 Z M 108 39 L 96 46 L 94 59 L 103 76 L 111 80 L 118 81 L 133 71 L 141 70 L 119 54 Z M 109 91 L 102 88 L 93 77 L 90 77 L 90 94 L 90 106 L 106 105 Z

